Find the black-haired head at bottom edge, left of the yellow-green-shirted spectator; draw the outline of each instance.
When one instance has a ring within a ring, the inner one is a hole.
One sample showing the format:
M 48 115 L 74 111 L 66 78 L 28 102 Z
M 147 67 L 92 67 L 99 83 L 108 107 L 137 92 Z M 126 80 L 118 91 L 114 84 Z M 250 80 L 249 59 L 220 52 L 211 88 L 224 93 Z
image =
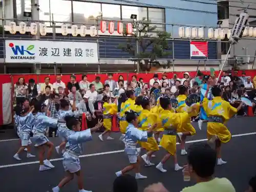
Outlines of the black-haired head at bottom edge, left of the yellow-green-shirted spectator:
M 135 177 L 122 175 L 113 183 L 113 192 L 138 192 L 138 184 Z

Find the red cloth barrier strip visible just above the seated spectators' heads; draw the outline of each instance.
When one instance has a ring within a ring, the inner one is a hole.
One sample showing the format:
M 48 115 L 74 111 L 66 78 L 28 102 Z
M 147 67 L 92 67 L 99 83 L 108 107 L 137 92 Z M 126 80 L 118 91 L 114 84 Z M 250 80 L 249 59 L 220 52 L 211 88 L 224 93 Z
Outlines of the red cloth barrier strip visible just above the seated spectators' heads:
M 191 71 L 189 72 L 190 77 L 195 77 L 196 76 L 196 71 Z M 210 71 L 204 71 L 202 72 L 203 74 L 209 75 Z M 251 78 L 253 78 L 256 75 L 256 70 L 245 70 L 246 76 L 250 76 Z M 132 80 L 132 76 L 136 75 L 137 76 L 137 80 L 139 80 L 139 78 L 143 78 L 144 82 L 150 82 L 150 79 L 153 78 L 154 73 L 112 73 L 113 74 L 113 79 L 114 80 L 118 80 L 118 77 L 120 75 L 123 76 L 124 80 Z M 156 73 L 159 76 L 159 79 L 162 78 L 162 74 L 163 73 Z M 178 78 L 183 78 L 183 74 L 184 72 L 169 72 L 169 73 L 165 73 L 168 77 L 168 79 L 173 78 L 174 74 L 176 74 L 178 76 Z M 216 75 L 219 75 L 219 71 L 215 72 Z M 70 74 L 71 75 L 71 74 Z M 65 83 L 70 81 L 70 75 L 61 75 L 61 80 Z M 20 77 L 24 77 L 25 78 L 25 82 L 28 83 L 28 80 L 33 78 L 35 80 L 36 83 L 43 83 L 45 82 L 45 78 L 46 77 L 50 77 L 50 83 L 54 83 L 56 81 L 56 76 L 57 75 L 46 75 L 46 74 L 42 74 L 42 75 L 36 75 L 36 74 L 28 74 L 28 75 L 11 75 L 12 76 L 12 82 L 16 83 L 18 81 L 18 79 Z M 82 80 L 82 74 L 75 74 L 76 76 L 76 80 L 79 82 L 80 80 Z M 87 74 L 87 80 L 92 82 L 95 80 L 95 77 L 99 76 L 100 77 L 100 81 L 102 83 L 104 83 L 104 81 L 108 78 L 108 74 L 104 73 L 104 74 Z M 238 76 L 242 76 L 242 71 L 238 72 Z

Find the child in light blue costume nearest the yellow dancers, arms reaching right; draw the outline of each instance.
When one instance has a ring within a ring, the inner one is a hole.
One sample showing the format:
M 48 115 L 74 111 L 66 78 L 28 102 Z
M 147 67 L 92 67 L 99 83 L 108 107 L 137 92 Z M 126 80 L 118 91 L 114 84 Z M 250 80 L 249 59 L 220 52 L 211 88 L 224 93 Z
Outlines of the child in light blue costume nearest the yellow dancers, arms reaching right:
M 138 118 L 134 112 L 125 112 L 126 121 L 129 123 L 125 133 L 125 148 L 124 152 L 127 154 L 130 165 L 124 167 L 119 172 L 116 172 L 116 176 L 119 177 L 132 169 L 135 169 L 136 179 L 146 179 L 146 176 L 140 174 L 140 157 L 137 151 L 138 141 L 147 141 L 147 136 L 151 135 L 156 128 L 156 124 L 149 127 L 147 131 L 140 131 L 138 127 Z

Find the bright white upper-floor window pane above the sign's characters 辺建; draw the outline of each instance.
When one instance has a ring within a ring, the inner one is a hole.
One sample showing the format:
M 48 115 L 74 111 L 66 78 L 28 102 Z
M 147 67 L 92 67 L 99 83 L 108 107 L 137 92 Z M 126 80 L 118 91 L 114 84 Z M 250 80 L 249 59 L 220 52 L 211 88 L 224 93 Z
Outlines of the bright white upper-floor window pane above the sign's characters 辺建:
M 51 9 L 51 22 L 60 22 L 55 23 L 56 26 L 61 26 L 63 23 L 72 22 L 72 11 L 71 11 L 71 1 L 65 0 L 54 0 L 50 1 Z M 71 26 L 71 24 L 67 24 Z

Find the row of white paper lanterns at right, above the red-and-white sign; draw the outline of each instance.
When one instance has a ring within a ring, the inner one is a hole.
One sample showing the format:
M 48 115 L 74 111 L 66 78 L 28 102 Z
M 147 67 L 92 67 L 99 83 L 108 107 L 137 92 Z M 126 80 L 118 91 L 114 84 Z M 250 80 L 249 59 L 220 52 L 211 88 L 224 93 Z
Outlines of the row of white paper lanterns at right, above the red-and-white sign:
M 231 35 L 231 29 L 225 30 L 222 28 L 208 28 L 208 38 L 209 39 L 225 39 Z M 256 27 L 245 27 L 243 36 L 256 37 Z M 179 37 L 180 38 L 204 38 L 204 28 L 190 28 L 190 27 L 179 27 Z

